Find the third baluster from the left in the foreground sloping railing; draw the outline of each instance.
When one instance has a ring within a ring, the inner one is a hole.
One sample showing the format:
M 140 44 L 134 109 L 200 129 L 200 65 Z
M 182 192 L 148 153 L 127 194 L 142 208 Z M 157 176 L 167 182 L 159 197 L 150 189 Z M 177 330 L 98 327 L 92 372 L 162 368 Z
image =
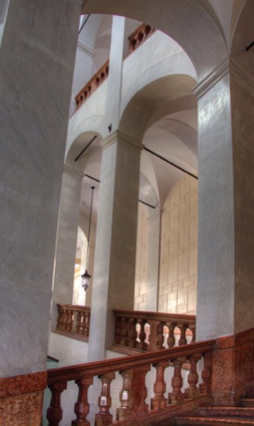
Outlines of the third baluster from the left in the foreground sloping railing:
M 98 399 L 100 412 L 95 414 L 95 426 L 107 426 L 112 423 L 113 416 L 109 413 L 111 406 L 110 384 L 116 377 L 115 373 L 103 374 L 101 378 L 101 395 Z

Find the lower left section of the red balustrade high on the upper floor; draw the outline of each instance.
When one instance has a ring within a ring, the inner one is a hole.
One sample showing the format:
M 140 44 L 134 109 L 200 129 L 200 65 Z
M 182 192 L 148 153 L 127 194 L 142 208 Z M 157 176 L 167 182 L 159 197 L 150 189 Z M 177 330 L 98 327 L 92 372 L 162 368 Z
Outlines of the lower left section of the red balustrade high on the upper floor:
M 89 80 L 89 82 L 85 84 L 83 89 L 79 93 L 77 93 L 77 95 L 75 96 L 76 110 L 78 110 L 78 108 L 81 105 L 83 105 L 83 102 L 85 102 L 89 98 L 89 96 L 91 96 L 91 94 L 95 92 L 95 90 L 101 85 L 101 83 L 103 83 L 106 80 L 108 75 L 109 75 L 109 59 L 99 69 L 99 71 L 97 71 L 97 73 L 92 76 L 91 80 Z

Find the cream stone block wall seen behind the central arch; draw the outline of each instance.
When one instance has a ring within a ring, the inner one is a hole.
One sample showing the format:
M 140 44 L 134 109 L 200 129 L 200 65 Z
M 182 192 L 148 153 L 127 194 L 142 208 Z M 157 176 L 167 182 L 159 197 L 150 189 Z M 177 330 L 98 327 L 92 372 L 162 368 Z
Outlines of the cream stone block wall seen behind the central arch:
M 147 219 L 147 208 L 140 205 L 136 250 L 136 310 L 145 310 L 149 232 Z M 189 176 L 175 183 L 162 207 L 158 306 L 160 312 L 196 314 L 197 180 Z

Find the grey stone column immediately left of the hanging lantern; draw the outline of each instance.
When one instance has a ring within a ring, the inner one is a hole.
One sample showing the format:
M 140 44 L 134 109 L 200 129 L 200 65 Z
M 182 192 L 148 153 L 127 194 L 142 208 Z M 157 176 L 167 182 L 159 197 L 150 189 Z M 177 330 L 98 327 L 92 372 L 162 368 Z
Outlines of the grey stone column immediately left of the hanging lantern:
M 56 271 L 51 329 L 56 329 L 57 303 L 72 303 L 74 263 L 83 173 L 65 165 L 57 227 Z

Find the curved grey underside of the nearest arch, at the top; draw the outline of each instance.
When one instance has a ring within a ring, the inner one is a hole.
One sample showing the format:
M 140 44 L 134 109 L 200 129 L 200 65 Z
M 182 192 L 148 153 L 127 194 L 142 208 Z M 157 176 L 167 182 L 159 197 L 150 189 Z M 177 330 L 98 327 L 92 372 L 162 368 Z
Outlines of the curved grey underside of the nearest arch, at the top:
M 222 26 L 208 0 L 86 0 L 83 13 L 118 14 L 148 22 L 186 51 L 201 81 L 228 56 Z

